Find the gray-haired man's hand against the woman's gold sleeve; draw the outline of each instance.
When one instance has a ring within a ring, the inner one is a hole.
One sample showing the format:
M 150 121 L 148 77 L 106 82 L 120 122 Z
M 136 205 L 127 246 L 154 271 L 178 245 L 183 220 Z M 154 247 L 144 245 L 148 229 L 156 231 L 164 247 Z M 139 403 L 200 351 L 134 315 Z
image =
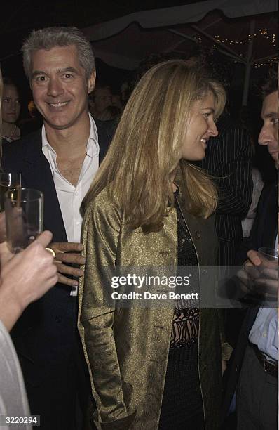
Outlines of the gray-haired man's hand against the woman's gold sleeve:
M 83 250 L 82 243 L 53 242 L 50 243 L 49 248 L 53 249 L 56 254 L 55 263 L 57 264 L 58 282 L 69 285 L 69 287 L 76 287 L 79 285 L 77 280 L 68 278 L 65 275 L 72 275 L 79 278 L 83 275 L 83 270 L 67 266 L 64 263 L 72 263 L 78 266 L 85 264 L 86 259 L 81 256 L 81 251 Z

